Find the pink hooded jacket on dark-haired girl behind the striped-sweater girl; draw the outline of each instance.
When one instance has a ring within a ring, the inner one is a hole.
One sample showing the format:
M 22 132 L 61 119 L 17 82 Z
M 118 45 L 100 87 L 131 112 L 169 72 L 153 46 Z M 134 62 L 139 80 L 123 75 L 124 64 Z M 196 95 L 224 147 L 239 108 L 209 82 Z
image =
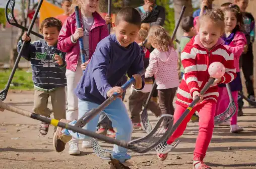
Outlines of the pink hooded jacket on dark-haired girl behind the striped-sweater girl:
M 236 68 L 236 72 L 240 72 L 239 68 L 239 58 L 243 53 L 243 48 L 246 45 L 245 35 L 237 31 L 234 39 L 229 45 L 224 45 L 229 51 L 234 54 L 234 66 Z

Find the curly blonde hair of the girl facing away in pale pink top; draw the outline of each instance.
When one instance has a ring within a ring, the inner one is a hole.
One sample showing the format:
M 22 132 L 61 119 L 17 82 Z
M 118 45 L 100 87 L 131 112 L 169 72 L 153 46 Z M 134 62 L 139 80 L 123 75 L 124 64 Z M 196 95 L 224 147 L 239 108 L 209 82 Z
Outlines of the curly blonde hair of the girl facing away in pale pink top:
M 172 46 L 171 37 L 165 29 L 159 25 L 151 26 L 148 34 L 149 43 L 161 52 L 166 52 Z

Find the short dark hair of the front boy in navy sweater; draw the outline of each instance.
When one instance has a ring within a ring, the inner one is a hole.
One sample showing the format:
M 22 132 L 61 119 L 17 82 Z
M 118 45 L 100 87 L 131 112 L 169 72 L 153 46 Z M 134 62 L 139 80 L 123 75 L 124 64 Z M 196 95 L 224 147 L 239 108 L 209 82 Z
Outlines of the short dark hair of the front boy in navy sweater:
M 127 23 L 141 27 L 140 13 L 136 9 L 131 7 L 123 8 L 117 13 L 115 24 L 118 25 L 120 21 L 125 21 Z

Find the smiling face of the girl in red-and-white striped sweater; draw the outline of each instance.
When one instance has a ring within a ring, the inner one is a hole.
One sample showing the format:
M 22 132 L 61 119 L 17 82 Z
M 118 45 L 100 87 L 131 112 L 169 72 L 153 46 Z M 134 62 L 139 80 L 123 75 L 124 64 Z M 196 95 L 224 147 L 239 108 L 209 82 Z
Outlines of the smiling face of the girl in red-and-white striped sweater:
M 199 37 L 201 44 L 211 50 L 222 35 L 222 30 L 218 24 L 212 21 L 203 21 L 199 27 Z

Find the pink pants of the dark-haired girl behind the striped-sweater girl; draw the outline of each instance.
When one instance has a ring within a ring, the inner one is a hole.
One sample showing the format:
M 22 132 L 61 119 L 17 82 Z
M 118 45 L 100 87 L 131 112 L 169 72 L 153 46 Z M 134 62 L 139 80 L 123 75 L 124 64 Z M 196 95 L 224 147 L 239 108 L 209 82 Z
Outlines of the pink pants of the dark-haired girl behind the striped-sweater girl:
M 219 98 L 217 100 L 215 116 L 223 113 L 228 108 L 228 104 L 230 102 L 229 97 L 228 97 L 228 91 L 227 91 L 226 87 L 218 87 L 218 91 L 219 91 Z M 237 124 L 238 91 L 233 91 L 232 97 L 233 97 L 235 105 L 236 105 L 236 112 L 230 118 L 230 124 L 234 125 L 234 124 Z

